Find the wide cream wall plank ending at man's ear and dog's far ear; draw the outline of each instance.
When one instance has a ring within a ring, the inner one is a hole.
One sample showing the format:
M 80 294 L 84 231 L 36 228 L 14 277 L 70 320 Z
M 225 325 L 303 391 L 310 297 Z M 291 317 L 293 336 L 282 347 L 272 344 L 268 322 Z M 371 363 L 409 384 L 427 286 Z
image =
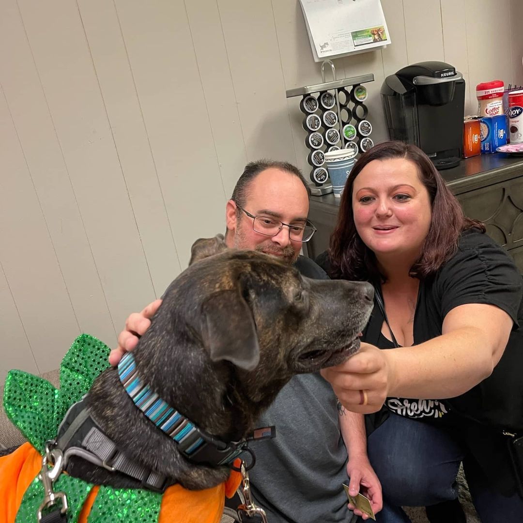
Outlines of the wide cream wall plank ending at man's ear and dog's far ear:
M 116 7 L 184 269 L 196 238 L 223 231 L 225 203 L 185 6 L 117 0 Z

